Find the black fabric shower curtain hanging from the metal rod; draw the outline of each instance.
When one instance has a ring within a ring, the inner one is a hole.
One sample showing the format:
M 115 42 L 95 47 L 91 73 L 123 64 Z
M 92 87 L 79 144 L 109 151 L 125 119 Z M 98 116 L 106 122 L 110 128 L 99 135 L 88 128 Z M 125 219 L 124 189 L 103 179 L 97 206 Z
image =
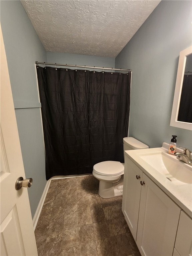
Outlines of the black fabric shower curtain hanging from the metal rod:
M 123 160 L 131 73 L 37 66 L 46 179 L 92 173 L 93 165 Z

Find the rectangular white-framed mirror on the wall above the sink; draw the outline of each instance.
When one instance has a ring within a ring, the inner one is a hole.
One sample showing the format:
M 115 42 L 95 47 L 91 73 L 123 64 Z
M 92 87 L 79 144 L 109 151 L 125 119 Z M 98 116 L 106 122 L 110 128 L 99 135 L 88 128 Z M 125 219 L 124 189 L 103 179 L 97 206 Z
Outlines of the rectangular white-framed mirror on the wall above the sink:
M 192 46 L 179 54 L 170 126 L 192 130 Z

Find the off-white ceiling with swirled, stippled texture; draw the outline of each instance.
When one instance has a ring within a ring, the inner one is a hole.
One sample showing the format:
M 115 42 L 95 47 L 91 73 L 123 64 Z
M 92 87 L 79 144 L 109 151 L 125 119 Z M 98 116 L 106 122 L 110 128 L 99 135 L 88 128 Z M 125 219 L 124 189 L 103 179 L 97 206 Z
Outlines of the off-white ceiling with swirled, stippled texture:
M 159 0 L 21 1 L 46 51 L 116 57 Z

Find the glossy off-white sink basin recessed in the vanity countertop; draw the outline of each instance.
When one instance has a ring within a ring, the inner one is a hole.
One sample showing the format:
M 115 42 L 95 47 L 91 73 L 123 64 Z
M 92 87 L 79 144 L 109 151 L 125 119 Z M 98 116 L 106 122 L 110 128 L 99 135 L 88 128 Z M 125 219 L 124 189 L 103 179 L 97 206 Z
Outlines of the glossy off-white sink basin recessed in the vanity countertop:
M 147 164 L 176 186 L 192 184 L 192 167 L 164 152 L 139 154 Z

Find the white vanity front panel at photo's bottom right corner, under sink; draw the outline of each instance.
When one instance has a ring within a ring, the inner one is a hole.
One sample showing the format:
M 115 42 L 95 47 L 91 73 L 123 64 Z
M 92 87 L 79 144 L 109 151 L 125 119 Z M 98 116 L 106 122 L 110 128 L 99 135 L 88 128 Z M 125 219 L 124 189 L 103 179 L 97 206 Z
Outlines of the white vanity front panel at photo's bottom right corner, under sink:
M 181 211 L 175 249 L 181 256 L 192 255 L 192 219 Z

